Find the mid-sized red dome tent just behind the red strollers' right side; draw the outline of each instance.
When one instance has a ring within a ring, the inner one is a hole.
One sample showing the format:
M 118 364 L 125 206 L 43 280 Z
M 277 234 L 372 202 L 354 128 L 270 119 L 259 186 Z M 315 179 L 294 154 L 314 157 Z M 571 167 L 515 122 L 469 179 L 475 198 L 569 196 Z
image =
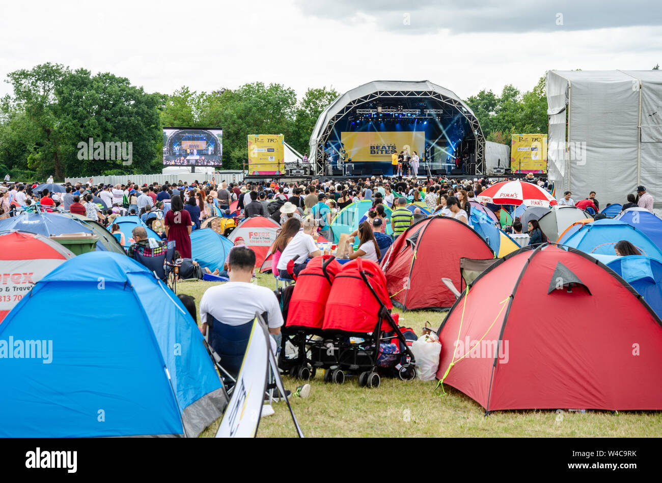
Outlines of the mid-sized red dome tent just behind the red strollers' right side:
M 393 304 L 405 310 L 444 309 L 455 295 L 442 283 L 460 287 L 460 258 L 494 258 L 490 246 L 456 219 L 428 217 L 414 223 L 389 248 L 382 268 Z

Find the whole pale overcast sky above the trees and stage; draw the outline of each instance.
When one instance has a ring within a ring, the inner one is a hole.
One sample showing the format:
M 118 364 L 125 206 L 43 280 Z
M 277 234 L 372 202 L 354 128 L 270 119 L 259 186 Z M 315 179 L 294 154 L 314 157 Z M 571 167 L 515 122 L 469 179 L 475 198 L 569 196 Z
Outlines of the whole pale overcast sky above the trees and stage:
M 417 0 L 0 0 L 0 77 L 50 61 L 148 92 L 281 83 L 340 93 L 424 80 L 461 98 L 526 91 L 547 69 L 662 63 L 662 3 Z M 0 95 L 10 92 L 0 84 Z

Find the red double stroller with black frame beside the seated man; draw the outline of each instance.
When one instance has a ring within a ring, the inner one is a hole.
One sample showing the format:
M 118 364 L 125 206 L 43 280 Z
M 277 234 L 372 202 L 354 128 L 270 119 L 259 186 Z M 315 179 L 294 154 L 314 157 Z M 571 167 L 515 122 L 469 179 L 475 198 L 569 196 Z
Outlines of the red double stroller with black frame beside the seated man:
M 338 271 L 341 266 L 332 258 L 316 258 L 323 260 L 311 268 L 310 278 L 301 280 L 308 267 L 299 275 L 283 329 L 287 336 L 295 334 L 299 344 L 296 375 L 326 369 L 324 381 L 343 383 L 350 373 L 359 376 L 362 387 L 379 387 L 380 374 L 414 379 L 414 355 L 391 316 L 393 305 L 379 265 L 357 258 Z

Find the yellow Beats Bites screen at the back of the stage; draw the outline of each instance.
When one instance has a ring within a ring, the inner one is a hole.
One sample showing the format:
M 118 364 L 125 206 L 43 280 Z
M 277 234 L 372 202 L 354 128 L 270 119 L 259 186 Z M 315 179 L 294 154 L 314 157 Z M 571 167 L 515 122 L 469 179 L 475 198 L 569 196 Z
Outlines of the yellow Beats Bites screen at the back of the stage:
M 340 133 L 348 159 L 354 163 L 381 161 L 391 164 L 391 155 L 414 151 L 424 157 L 425 131 L 359 131 Z

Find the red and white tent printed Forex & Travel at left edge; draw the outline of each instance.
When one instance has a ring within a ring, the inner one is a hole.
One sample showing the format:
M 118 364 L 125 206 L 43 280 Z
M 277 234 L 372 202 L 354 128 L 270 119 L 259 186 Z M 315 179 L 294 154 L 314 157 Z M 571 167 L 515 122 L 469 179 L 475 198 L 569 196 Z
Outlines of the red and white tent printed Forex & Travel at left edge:
M 28 295 L 32 286 L 73 253 L 58 242 L 35 233 L 0 234 L 0 322 Z

